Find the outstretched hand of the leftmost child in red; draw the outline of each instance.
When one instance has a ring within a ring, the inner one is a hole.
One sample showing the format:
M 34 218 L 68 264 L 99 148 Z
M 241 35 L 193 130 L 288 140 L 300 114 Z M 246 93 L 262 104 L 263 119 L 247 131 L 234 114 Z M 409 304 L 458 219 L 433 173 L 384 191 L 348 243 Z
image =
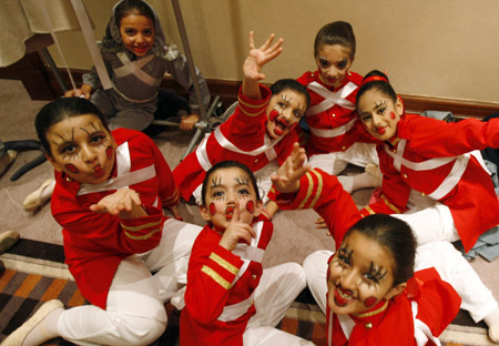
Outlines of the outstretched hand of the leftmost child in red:
M 103 197 L 90 210 L 95 213 L 110 213 L 121 218 L 135 218 L 146 216 L 139 193 L 131 189 L 119 189 L 115 193 Z

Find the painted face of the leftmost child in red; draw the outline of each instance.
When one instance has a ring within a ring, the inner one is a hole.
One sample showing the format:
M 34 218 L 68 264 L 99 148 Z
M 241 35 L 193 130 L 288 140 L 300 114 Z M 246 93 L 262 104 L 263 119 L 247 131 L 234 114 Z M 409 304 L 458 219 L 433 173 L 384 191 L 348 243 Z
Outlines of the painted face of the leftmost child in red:
M 59 172 L 84 184 L 106 181 L 114 165 L 116 144 L 94 114 L 67 118 L 47 132 L 52 157 Z

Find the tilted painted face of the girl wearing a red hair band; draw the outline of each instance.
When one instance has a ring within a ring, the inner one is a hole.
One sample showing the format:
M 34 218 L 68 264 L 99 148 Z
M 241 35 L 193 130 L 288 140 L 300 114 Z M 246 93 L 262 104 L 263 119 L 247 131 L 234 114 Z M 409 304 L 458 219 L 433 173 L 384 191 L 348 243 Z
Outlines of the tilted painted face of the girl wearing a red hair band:
M 404 114 L 400 99 L 394 101 L 380 91 L 366 91 L 358 100 L 358 115 L 364 129 L 380 141 L 387 141 L 397 134 L 397 123 Z

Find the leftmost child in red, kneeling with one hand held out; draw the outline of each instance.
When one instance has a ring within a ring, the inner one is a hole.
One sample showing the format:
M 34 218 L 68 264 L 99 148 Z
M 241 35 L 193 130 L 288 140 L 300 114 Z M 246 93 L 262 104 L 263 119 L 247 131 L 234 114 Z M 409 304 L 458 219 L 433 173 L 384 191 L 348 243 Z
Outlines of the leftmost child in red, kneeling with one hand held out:
M 65 263 L 91 305 L 44 303 L 2 345 L 61 336 L 74 344 L 147 345 L 166 327 L 164 303 L 185 284 L 201 228 L 163 215 L 179 193 L 145 134 L 110 132 L 90 101 L 58 99 L 41 109 L 37 133 L 55 169 L 52 214 L 63 227 Z M 156 274 L 151 275 L 151 272 Z

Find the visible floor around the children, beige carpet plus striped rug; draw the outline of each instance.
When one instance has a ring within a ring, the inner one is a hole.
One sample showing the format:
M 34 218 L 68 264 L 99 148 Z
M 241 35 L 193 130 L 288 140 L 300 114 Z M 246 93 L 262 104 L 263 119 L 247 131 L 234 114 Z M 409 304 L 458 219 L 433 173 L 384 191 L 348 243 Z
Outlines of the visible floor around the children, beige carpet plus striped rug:
M 30 100 L 21 82 L 0 79 L 0 139 L 2 141 L 35 140 L 34 115 L 45 103 Z M 167 128 L 154 138 L 172 169 L 184 154 L 191 135 L 192 133 Z M 18 180 L 10 180 L 19 167 L 39 154 L 39 151 L 21 152 L 12 166 L 0 176 L 0 232 L 17 230 L 21 234 L 21 241 L 16 247 L 0 255 L 9 269 L 0 282 L 0 339 L 13 330 L 16 324 L 19 325 L 20 322 L 26 320 L 37 309 L 42 297 L 43 299 L 47 299 L 47 296 L 59 297 L 68 306 L 77 304 L 72 299 L 83 304 L 81 297 L 77 297 L 74 283 L 62 264 L 61 227 L 53 220 L 49 205 L 33 213 L 26 212 L 21 205 L 30 192 L 38 189 L 44 180 L 53 176 L 53 169 L 45 162 Z M 367 204 L 370 193 L 371 190 L 365 189 L 354 192 L 353 197 L 361 207 Z M 196 207 L 183 204 L 180 212 L 186 222 L 204 225 Z M 275 231 L 265 252 L 264 267 L 285 262 L 302 264 L 304 258 L 314 251 L 334 250 L 334 241 L 327 232 L 315 230 L 316 217 L 317 214 L 314 211 L 279 212 L 274 217 Z M 499 258 L 488 263 L 479 257 L 471 262 L 471 265 L 499 301 L 499 275 L 496 275 Z M 68 293 L 67 289 L 70 288 L 65 287 L 71 286 L 73 291 Z M 467 313 L 459 316 L 462 322 L 455 320 L 455 324 L 449 326 L 442 335 L 447 346 L 490 345 L 482 325 L 471 323 Z M 312 338 L 317 345 L 324 343 L 324 314 L 315 304 L 295 304 L 283 320 L 282 328 Z

